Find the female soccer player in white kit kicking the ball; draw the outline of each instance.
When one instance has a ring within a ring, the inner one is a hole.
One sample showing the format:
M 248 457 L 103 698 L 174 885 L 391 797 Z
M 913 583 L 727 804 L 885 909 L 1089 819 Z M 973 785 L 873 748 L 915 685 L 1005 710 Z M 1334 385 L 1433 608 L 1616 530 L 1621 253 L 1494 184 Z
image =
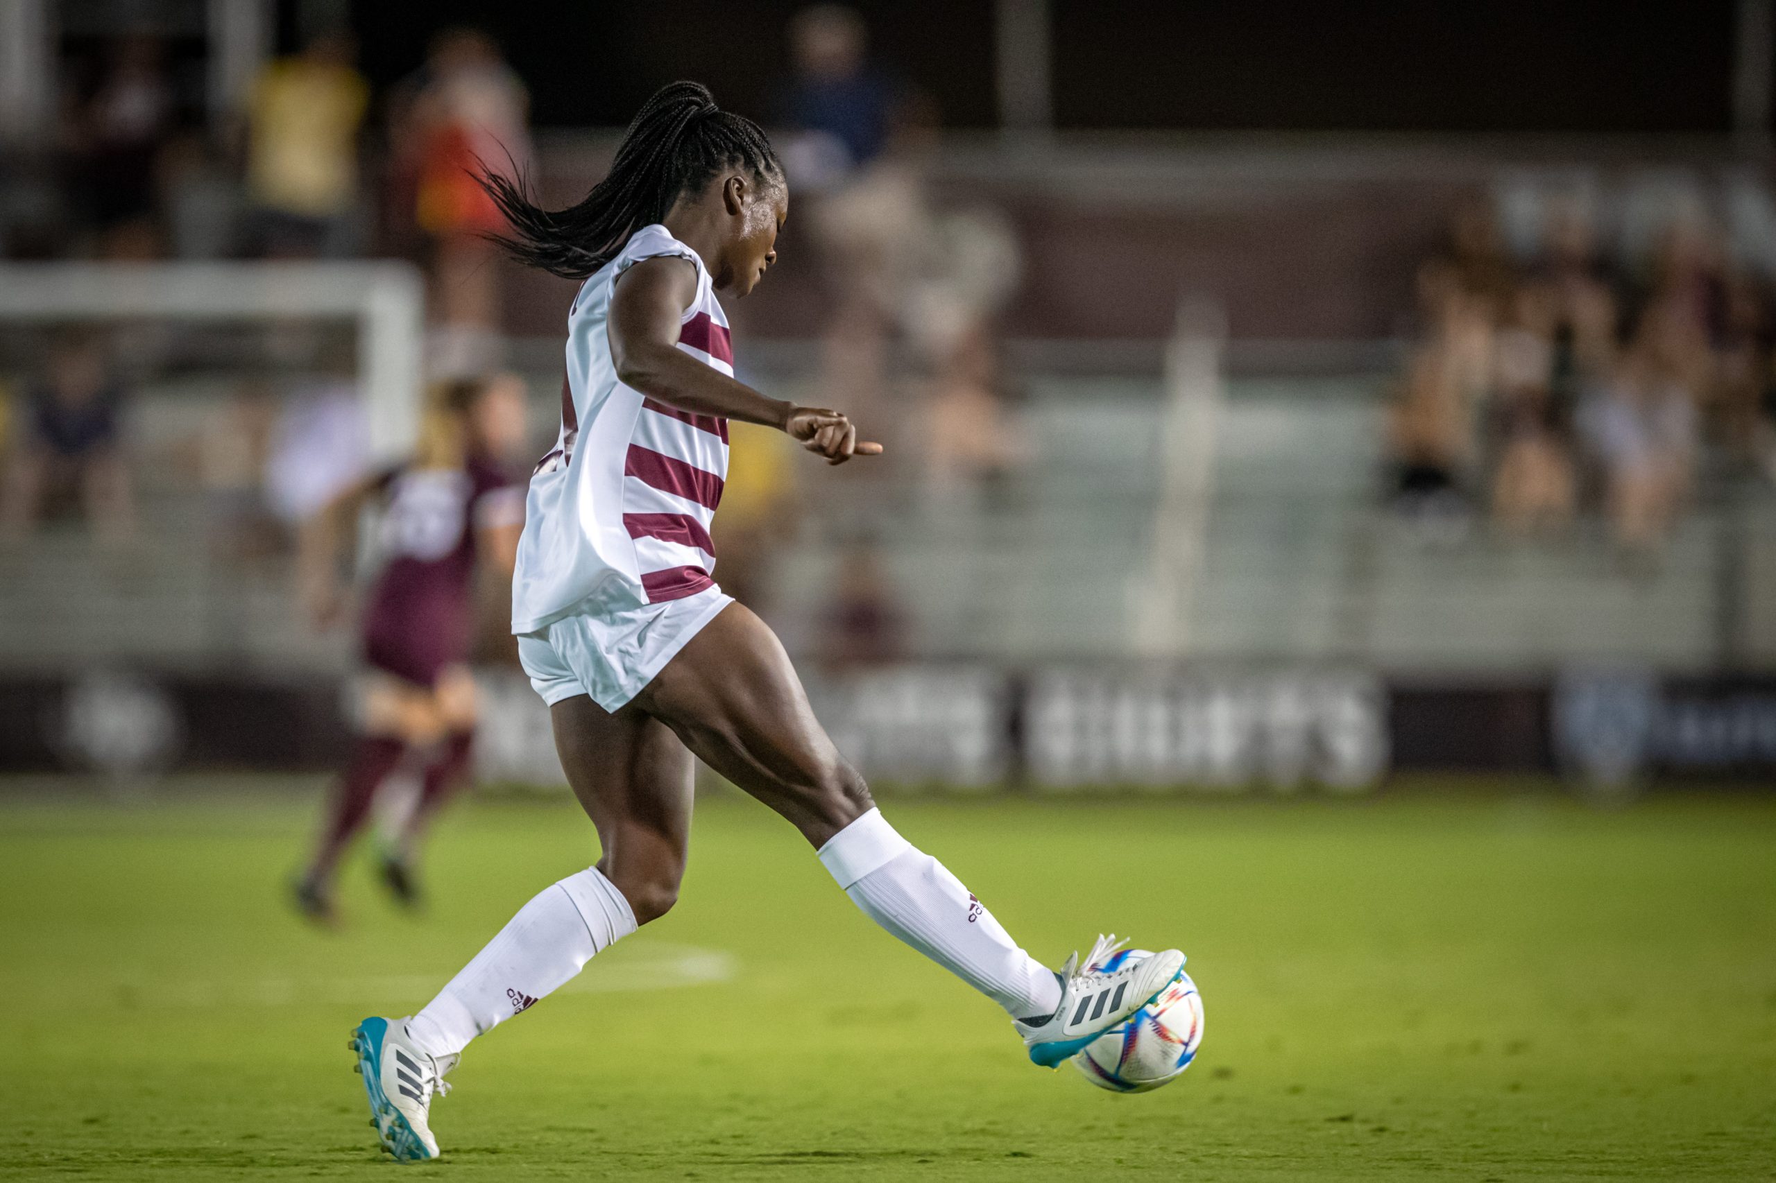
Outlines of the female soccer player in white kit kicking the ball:
M 604 858 L 520 908 L 419 1014 L 355 1028 L 382 1144 L 400 1160 L 437 1156 L 430 1103 L 464 1046 L 671 908 L 693 753 L 801 830 L 872 920 L 1005 1007 L 1037 1064 L 1154 998 L 1183 966 L 1177 950 L 1103 972 L 1115 945 L 1099 938 L 1083 966 L 1074 954 L 1055 973 L 895 833 L 776 636 L 709 577 L 728 419 L 780 428 L 829 464 L 881 451 L 844 414 L 732 377 L 716 291 L 753 290 L 789 213 L 764 133 L 677 82 L 646 101 L 577 206 L 545 213 L 515 185 L 487 185 L 519 259 L 584 281 L 561 435 L 531 476 L 511 627 Z

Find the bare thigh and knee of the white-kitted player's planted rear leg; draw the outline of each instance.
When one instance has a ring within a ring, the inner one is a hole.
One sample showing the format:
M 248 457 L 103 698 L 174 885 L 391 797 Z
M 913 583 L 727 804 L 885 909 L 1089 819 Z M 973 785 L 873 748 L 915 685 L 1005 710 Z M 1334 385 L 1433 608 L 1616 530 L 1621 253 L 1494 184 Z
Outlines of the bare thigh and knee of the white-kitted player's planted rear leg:
M 599 867 L 638 920 L 662 913 L 691 842 L 691 753 L 671 728 L 634 707 L 611 714 L 574 695 L 549 714 L 568 785 L 599 830 Z

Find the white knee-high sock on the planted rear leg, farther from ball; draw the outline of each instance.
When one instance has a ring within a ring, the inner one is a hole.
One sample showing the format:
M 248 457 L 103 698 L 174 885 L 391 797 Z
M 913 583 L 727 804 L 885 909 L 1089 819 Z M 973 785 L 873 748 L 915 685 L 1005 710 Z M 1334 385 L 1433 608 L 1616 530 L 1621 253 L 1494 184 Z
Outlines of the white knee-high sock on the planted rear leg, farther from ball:
M 432 1055 L 462 1052 L 558 989 L 591 956 L 636 931 L 636 913 L 597 867 L 554 883 L 519 909 L 474 959 L 407 1023 Z

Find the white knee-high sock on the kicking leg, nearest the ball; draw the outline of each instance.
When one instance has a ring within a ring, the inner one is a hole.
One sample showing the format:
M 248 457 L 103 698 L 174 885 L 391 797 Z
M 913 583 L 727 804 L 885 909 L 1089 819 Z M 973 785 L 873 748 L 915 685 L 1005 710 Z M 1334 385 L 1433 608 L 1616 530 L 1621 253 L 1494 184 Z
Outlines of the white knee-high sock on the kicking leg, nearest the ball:
M 1055 972 L 1019 949 L 943 863 L 895 833 L 879 810 L 833 835 L 821 863 L 870 920 L 1012 1018 L 1048 1016 L 1060 1005 Z

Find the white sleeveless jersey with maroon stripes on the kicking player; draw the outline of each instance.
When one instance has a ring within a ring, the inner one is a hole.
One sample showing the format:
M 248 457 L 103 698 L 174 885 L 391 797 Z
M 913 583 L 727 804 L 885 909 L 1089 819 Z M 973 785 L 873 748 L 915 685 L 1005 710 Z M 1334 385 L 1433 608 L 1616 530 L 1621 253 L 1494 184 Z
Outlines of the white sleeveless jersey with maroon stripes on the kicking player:
M 728 421 L 693 416 L 616 380 L 607 318 L 616 279 L 657 256 L 696 268 L 678 348 L 733 375 L 728 318 L 703 259 L 664 226 L 634 233 L 579 290 L 568 313 L 561 435 L 531 474 L 511 579 L 511 631 L 574 611 L 618 613 L 714 586 L 709 524 L 728 474 Z

